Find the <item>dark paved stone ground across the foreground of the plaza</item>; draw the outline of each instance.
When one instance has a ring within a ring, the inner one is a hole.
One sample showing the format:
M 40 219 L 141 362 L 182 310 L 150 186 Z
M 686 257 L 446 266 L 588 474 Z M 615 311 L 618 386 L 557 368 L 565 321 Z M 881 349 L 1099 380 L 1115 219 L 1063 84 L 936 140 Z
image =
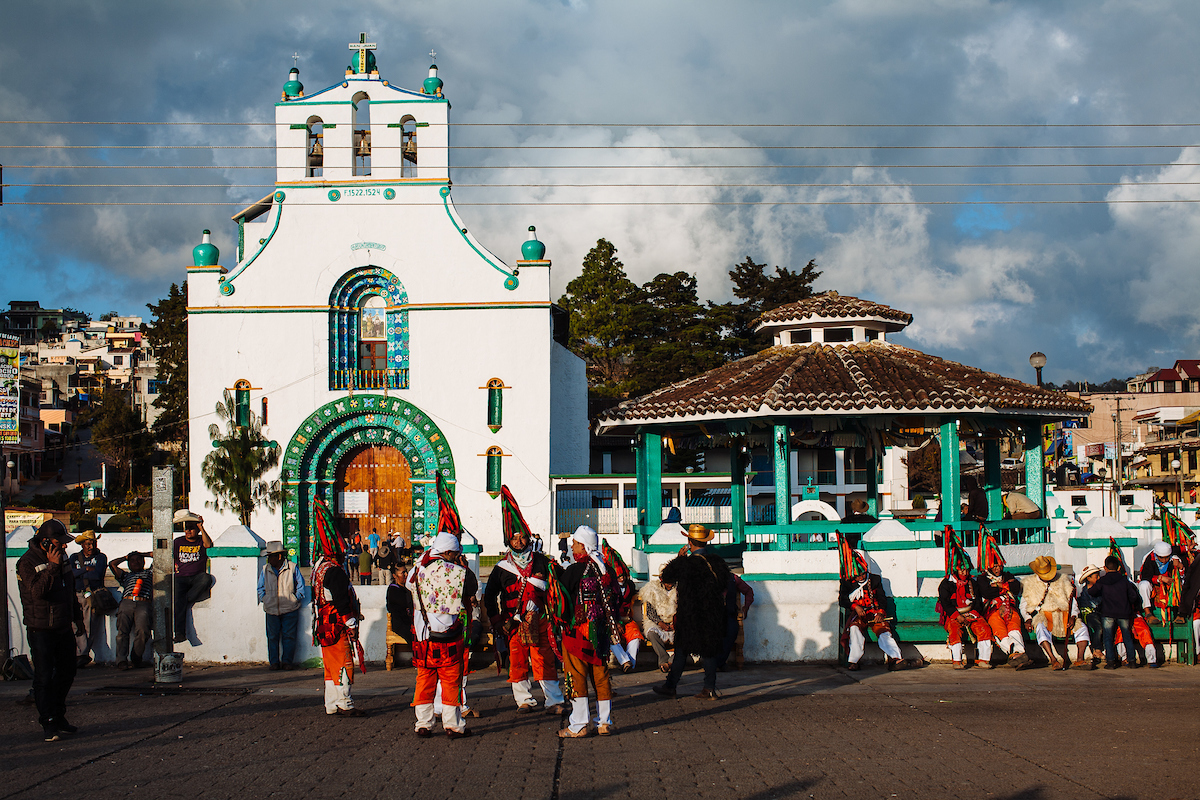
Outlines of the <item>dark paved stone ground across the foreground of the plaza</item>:
M 1200 669 L 904 673 L 752 667 L 704 703 L 658 673 L 617 675 L 618 734 L 560 741 L 517 715 L 494 672 L 472 675 L 478 734 L 413 735 L 412 669 L 360 675 L 367 718 L 326 717 L 318 670 L 186 667 L 192 693 L 150 674 L 80 672 L 79 733 L 46 744 L 28 682 L 0 684 L 7 798 L 1196 798 Z M 248 693 L 242 690 L 253 690 Z

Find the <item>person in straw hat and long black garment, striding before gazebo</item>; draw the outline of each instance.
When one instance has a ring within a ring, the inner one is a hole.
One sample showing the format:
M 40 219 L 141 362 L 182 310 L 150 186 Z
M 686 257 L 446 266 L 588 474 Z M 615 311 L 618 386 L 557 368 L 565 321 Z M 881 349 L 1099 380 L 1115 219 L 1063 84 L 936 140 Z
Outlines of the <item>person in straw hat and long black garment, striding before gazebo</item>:
M 716 699 L 716 658 L 725 640 L 725 588 L 730 583 L 730 567 L 725 560 L 708 552 L 713 531 L 703 525 L 688 529 L 688 551 L 672 559 L 660 579 L 664 587 L 676 587 L 676 655 L 671 672 L 654 691 L 674 697 L 688 655 L 696 654 L 704 668 L 704 687 L 696 697 Z

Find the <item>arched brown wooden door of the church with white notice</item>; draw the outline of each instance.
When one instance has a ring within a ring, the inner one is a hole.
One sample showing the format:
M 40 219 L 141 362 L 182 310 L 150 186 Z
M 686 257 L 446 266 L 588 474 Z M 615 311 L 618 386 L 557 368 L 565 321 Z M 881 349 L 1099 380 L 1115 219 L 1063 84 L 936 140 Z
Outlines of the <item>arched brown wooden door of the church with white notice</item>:
M 337 468 L 337 516 L 343 535 L 380 537 L 413 535 L 413 480 L 408 462 L 395 447 L 365 445 L 352 450 Z

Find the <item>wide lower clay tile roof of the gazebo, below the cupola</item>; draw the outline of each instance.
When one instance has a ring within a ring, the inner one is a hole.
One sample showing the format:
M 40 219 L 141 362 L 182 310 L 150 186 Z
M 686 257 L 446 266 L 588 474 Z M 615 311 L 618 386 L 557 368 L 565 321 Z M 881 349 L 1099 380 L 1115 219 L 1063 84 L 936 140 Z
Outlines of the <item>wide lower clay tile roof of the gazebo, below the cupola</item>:
M 1030 411 L 1085 416 L 1078 397 L 887 342 L 773 347 L 625 401 L 598 417 L 629 423 L 769 413 Z

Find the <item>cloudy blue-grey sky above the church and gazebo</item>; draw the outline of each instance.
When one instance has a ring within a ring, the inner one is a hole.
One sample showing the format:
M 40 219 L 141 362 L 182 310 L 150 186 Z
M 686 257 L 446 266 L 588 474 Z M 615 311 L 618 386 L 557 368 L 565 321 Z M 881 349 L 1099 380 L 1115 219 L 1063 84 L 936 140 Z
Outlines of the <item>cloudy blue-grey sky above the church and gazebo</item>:
M 308 91 L 338 82 L 359 31 L 397 85 L 436 50 L 452 122 L 503 124 L 454 131 L 485 148 L 454 152 L 455 198 L 510 261 L 536 224 L 556 296 L 602 236 L 715 301 L 745 255 L 815 258 L 818 289 L 912 312 L 905 343 L 1024 379 L 1033 350 L 1052 381 L 1200 351 L 1187 0 L 7 2 L 0 300 L 140 313 L 202 228 L 229 261 L 272 180 L 240 124 L 294 53 Z M 239 125 L 68 125 L 95 121 Z

